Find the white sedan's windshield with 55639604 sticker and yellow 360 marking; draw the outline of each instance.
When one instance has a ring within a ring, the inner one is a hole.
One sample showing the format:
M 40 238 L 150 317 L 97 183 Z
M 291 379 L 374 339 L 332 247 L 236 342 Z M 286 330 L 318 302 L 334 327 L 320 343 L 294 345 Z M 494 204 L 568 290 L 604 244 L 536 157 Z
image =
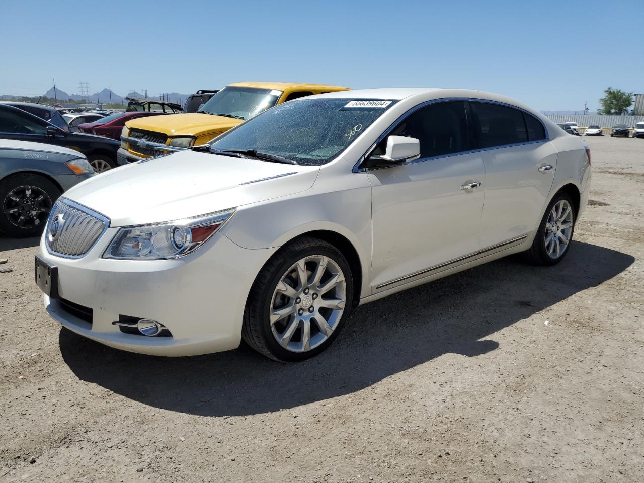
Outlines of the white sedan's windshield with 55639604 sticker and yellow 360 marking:
M 325 164 L 395 102 L 349 98 L 291 100 L 216 138 L 210 149 L 213 153 L 256 151 L 297 164 Z

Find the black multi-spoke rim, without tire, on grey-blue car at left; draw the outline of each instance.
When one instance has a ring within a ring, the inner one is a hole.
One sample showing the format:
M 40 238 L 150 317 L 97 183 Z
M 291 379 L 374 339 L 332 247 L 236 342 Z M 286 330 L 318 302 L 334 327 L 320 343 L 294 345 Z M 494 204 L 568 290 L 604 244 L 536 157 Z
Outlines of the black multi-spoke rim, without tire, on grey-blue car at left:
M 37 186 L 18 186 L 6 195 L 3 211 L 6 218 L 19 228 L 39 227 L 52 211 L 52 198 Z

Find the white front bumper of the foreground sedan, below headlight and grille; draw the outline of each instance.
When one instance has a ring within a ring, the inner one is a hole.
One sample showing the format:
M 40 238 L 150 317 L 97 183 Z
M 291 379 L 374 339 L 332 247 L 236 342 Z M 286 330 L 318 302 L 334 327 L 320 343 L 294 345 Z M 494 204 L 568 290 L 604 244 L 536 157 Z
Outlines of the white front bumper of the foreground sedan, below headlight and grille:
M 140 354 L 207 354 L 240 344 L 251 285 L 276 249 L 243 249 L 217 233 L 176 260 L 100 258 L 117 231 L 108 229 L 86 256 L 74 260 L 50 254 L 43 237 L 40 256 L 58 267 L 61 298 L 92 311 L 91 321 L 84 321 L 44 295 L 53 319 L 81 336 Z M 172 336 L 122 332 L 113 324 L 119 316 L 158 321 Z

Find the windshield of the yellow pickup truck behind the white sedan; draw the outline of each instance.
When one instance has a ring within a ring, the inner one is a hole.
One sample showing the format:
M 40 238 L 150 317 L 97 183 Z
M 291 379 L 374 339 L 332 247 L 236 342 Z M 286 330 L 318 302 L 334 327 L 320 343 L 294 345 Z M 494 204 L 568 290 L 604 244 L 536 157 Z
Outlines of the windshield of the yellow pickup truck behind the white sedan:
M 199 109 L 209 114 L 249 119 L 278 102 L 282 91 L 254 87 L 225 87 Z

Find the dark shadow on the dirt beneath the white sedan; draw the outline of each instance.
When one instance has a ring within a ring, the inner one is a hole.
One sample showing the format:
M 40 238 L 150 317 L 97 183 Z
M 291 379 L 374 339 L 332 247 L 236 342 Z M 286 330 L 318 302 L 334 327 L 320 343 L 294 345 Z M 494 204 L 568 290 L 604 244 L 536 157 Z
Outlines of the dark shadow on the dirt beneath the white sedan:
M 359 391 L 442 354 L 495 350 L 498 343 L 484 337 L 613 278 L 635 260 L 589 243 L 571 248 L 555 267 L 506 258 L 359 307 L 326 352 L 299 364 L 270 361 L 243 344 L 220 354 L 151 357 L 64 328 L 60 348 L 79 379 L 156 408 L 198 415 L 294 408 Z

